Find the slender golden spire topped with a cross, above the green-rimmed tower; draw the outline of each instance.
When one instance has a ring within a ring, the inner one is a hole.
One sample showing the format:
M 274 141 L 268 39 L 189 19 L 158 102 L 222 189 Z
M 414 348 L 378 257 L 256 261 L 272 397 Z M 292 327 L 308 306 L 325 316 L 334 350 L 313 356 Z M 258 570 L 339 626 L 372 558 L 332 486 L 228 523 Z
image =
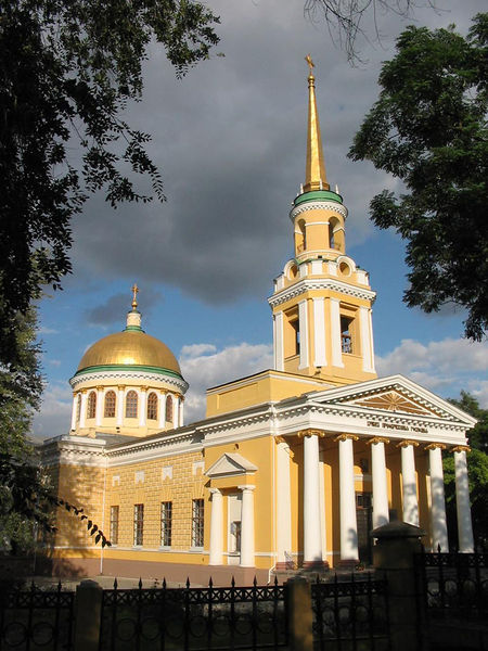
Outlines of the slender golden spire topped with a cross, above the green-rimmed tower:
M 330 186 L 325 176 L 323 162 L 322 138 L 320 136 L 319 114 L 316 101 L 314 67 L 310 54 L 305 61 L 308 63 L 308 132 L 307 132 L 307 164 L 305 169 L 304 192 L 311 190 L 329 190 Z

